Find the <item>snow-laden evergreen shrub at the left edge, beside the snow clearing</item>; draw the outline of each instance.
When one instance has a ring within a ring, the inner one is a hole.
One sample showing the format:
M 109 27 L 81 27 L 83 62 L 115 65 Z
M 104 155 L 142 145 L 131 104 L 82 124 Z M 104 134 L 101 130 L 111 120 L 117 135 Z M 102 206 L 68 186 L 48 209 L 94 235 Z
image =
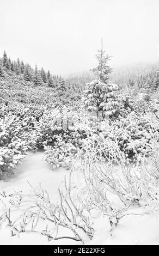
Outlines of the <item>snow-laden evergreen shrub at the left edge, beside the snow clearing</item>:
M 28 149 L 35 149 L 35 132 L 28 120 L 9 112 L 0 119 L 0 158 L 2 173 L 12 173 Z

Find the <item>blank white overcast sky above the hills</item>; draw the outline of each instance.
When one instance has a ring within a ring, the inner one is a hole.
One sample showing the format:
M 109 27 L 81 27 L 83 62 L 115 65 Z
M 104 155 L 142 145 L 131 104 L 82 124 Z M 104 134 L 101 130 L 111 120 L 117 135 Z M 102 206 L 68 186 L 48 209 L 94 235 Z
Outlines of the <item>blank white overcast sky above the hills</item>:
M 159 60 L 158 0 L 0 0 L 0 53 L 53 74 Z M 157 52 L 158 51 L 158 52 Z

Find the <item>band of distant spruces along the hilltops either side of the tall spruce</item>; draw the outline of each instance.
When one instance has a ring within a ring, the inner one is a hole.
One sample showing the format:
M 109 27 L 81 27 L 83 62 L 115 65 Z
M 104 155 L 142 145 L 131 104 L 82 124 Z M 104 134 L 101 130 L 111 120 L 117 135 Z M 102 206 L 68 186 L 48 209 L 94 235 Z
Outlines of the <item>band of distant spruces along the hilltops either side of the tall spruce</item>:
M 150 96 L 159 90 L 159 63 L 138 63 L 115 68 L 109 75 L 110 81 L 117 84 L 119 91 L 127 90 L 130 95 L 138 93 L 145 94 L 145 100 L 149 100 Z M 81 74 L 72 74 L 65 79 L 62 76 L 52 75 L 44 68 L 38 69 L 35 65 L 33 69 L 29 64 L 24 64 L 22 60 L 12 61 L 4 52 L 0 58 L 0 77 L 5 76 L 6 72 L 13 72 L 22 76 L 25 81 L 34 83 L 35 86 L 48 86 L 51 88 L 59 88 L 61 91 L 71 91 L 81 97 L 85 84 L 91 81 L 92 72 L 82 72 Z

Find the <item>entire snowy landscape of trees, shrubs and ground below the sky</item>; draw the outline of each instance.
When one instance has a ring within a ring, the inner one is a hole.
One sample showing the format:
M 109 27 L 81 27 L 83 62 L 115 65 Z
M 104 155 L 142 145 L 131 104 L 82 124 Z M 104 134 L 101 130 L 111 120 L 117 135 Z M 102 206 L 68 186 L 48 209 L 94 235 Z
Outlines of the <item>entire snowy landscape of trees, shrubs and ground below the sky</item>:
M 0 245 L 159 245 L 159 62 L 104 42 L 71 75 L 0 56 Z

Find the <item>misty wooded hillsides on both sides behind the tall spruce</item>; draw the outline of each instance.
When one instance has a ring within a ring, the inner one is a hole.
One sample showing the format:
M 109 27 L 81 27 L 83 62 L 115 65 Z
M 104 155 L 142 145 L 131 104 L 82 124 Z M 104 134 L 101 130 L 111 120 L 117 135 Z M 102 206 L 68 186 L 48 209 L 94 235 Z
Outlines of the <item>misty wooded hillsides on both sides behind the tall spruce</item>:
M 5 52 L 0 60 L 1 103 L 13 100 L 27 104 L 52 103 L 58 106 L 61 102 L 72 105 L 81 99 L 85 84 L 93 78 L 91 71 L 71 74 L 65 78 L 52 75 L 50 71 L 38 69 L 37 66 L 33 69 L 19 58 L 17 61 L 10 60 Z M 158 69 L 159 63 L 137 63 L 115 68 L 109 77 L 118 85 L 119 90 L 132 97 L 148 90 L 152 96 L 158 88 Z M 156 93 L 153 96 L 157 97 Z

